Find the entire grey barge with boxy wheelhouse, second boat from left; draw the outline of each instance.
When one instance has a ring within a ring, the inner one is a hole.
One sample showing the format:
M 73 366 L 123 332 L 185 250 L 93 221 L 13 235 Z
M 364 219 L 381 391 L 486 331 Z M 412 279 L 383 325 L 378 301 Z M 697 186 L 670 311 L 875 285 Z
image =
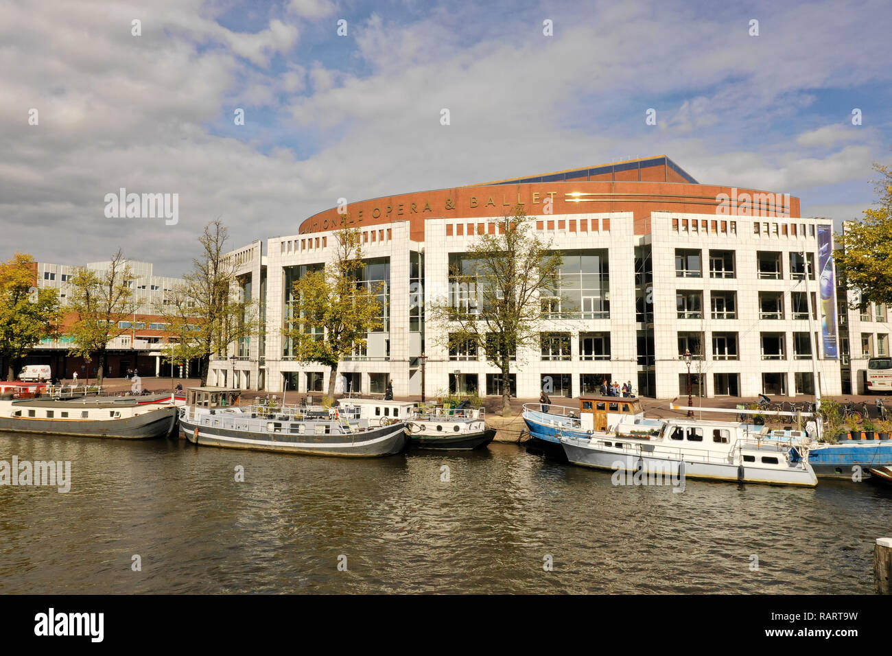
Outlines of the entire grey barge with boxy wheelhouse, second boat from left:
M 321 406 L 240 404 L 241 390 L 194 387 L 180 408 L 190 442 L 230 449 L 354 458 L 401 453 L 408 426 L 399 417 L 376 423 Z

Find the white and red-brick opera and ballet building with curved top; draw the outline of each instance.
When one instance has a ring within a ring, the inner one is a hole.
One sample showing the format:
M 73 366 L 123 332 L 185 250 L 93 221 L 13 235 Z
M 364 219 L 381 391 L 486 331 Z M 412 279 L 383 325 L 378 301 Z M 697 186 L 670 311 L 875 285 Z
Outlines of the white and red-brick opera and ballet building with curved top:
M 449 327 L 425 323 L 424 308 L 448 289 L 450 265 L 517 203 L 564 263 L 559 297 L 541 306 L 539 344 L 517 353 L 503 381 L 481 353 L 450 350 Z M 296 361 L 282 330 L 301 267 L 334 257 L 338 209 L 268 239 L 265 259 L 252 255 L 240 284 L 251 278 L 265 289 L 257 382 L 235 373 L 247 364 L 213 361 L 210 385 L 236 376 L 238 386 L 271 392 L 327 388 L 327 368 Z M 843 394 L 847 381 L 858 385 L 863 353 L 888 353 L 887 310 L 872 309 L 864 328 L 847 309 L 832 220 L 801 217 L 789 194 L 700 184 L 665 155 L 384 196 L 347 212 L 360 231 L 363 275 L 384 282 L 386 309 L 364 352 L 340 364 L 339 391 L 384 394 L 392 379 L 394 394 L 420 394 L 424 378 L 428 396 L 501 394 L 507 384 L 521 397 L 547 386 L 554 398 L 591 394 L 607 379 L 671 398 L 687 394 L 690 352 L 694 395 L 813 394 L 815 366 L 823 394 Z M 858 358 L 849 353 L 855 331 Z

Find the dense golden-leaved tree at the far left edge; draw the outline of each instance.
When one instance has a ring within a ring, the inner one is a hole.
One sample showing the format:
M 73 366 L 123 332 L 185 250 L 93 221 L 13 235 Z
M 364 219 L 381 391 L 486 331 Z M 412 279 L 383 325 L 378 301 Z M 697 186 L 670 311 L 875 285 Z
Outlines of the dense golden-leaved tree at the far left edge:
M 15 253 L 0 264 L 0 355 L 7 379 L 15 380 L 15 365 L 45 337 L 55 335 L 59 295 L 37 288 L 37 263 L 26 253 Z

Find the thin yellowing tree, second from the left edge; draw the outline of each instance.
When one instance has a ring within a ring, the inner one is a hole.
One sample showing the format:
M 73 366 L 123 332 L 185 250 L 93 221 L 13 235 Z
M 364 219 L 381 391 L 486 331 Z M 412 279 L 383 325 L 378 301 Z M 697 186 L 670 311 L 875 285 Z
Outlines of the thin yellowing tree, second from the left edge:
M 120 324 L 136 311 L 134 279 L 120 249 L 106 270 L 80 267 L 71 278 L 71 311 L 77 319 L 66 332 L 74 340 L 72 354 L 96 361 L 96 385 L 103 384 L 109 342 L 127 333 L 129 328 L 120 328 Z

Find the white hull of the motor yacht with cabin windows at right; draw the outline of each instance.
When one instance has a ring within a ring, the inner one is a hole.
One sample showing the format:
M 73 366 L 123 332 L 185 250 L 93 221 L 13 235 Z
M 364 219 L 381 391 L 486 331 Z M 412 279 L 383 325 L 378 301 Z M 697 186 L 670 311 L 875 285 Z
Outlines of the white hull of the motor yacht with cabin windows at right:
M 566 440 L 563 443 L 568 461 L 582 467 L 609 469 L 611 471 L 636 472 L 641 469 L 649 477 L 680 477 L 681 459 L 643 453 L 617 453 L 607 449 L 582 444 L 582 440 Z M 801 464 L 783 469 L 762 468 L 747 463 L 740 476 L 739 465 L 733 462 L 684 460 L 685 478 L 734 481 L 738 483 L 765 483 L 770 485 L 814 487 L 818 483 L 814 470 Z

